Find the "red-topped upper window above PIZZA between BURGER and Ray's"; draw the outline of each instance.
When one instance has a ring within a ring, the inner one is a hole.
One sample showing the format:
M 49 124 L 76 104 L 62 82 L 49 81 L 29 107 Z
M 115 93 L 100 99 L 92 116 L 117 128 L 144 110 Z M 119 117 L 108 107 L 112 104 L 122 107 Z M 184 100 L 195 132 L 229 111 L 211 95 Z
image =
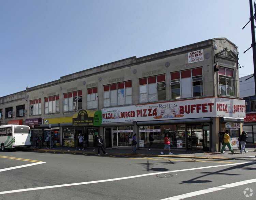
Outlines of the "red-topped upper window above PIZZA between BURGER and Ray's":
M 166 100 L 165 74 L 139 79 L 139 102 Z

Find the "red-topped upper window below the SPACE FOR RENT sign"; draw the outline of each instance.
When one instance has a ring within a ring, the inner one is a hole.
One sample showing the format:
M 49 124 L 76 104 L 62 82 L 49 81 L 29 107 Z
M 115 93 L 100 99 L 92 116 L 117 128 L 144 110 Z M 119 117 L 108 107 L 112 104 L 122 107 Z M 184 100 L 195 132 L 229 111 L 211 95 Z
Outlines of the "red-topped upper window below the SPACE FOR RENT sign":
M 171 99 L 203 96 L 202 68 L 173 72 L 171 75 Z

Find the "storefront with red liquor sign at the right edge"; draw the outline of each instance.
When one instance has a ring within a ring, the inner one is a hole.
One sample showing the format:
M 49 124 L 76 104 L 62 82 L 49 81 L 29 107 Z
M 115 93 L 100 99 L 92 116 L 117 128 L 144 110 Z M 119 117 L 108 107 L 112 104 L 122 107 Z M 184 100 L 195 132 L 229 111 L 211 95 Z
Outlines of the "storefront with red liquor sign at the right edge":
M 247 133 L 247 143 L 256 142 L 256 113 L 246 114 L 243 123 L 243 131 Z

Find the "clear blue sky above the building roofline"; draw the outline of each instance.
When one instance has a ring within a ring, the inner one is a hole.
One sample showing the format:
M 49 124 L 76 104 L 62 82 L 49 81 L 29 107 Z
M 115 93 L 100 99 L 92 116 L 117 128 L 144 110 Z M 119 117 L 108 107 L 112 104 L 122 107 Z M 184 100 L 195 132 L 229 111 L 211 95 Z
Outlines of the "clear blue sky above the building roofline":
M 249 0 L 0 0 L 0 97 L 218 37 L 238 47 L 244 77 L 254 73 L 249 20 Z

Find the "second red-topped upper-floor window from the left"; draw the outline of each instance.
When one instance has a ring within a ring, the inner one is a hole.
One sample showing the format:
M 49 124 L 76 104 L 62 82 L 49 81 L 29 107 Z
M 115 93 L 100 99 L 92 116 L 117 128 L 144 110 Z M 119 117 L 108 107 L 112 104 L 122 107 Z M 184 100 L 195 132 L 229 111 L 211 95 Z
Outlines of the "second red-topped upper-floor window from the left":
M 44 98 L 45 114 L 60 112 L 60 100 L 59 99 L 60 99 L 59 95 Z

